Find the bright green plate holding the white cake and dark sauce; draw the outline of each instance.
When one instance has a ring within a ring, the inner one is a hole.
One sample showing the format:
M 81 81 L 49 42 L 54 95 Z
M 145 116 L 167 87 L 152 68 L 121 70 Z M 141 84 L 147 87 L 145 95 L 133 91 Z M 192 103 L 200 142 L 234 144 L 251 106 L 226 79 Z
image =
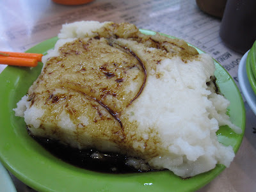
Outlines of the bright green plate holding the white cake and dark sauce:
M 153 31 L 141 31 L 147 35 L 155 34 Z M 45 54 L 57 40 L 56 37 L 46 40 L 28 52 Z M 244 132 L 245 112 L 240 92 L 221 65 L 215 64 L 220 91 L 231 103 L 228 114 Z M 41 68 L 42 63 L 35 68 L 9 66 L 0 75 L 0 160 L 31 188 L 37 191 L 195 191 L 224 170 L 225 166 L 218 164 L 213 170 L 190 179 L 181 179 L 170 171 L 115 175 L 83 170 L 52 156 L 28 135 L 24 118 L 15 116 L 13 111 Z M 220 127 L 217 134 L 221 143 L 232 145 L 237 152 L 243 134 L 236 134 L 227 126 Z

